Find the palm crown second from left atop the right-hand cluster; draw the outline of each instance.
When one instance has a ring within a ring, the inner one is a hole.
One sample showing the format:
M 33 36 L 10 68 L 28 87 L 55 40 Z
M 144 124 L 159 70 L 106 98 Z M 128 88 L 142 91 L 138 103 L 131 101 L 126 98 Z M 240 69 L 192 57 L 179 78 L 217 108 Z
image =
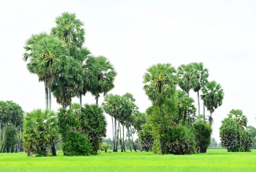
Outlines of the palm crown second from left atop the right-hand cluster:
M 179 77 L 179 87 L 189 96 L 189 90 L 193 89 L 198 82 L 193 64 L 180 65 L 177 70 L 177 75 Z

